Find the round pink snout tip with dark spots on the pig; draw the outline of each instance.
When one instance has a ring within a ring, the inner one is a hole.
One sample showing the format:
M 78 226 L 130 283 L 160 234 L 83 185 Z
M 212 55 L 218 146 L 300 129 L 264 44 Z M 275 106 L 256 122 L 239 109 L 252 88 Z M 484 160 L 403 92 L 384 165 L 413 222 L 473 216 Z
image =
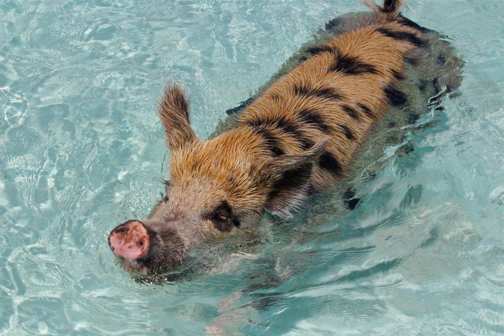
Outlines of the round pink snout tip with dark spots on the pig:
M 128 260 L 135 260 L 146 255 L 149 245 L 149 233 L 144 223 L 140 221 L 124 222 L 108 235 L 108 246 L 112 252 Z

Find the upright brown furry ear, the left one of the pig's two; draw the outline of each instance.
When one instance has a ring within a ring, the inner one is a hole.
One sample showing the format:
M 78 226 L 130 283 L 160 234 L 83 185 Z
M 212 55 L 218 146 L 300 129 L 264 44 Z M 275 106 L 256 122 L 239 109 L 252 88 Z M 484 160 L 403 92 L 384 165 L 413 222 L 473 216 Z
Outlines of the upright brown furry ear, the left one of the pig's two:
M 159 103 L 159 118 L 163 125 L 166 145 L 171 152 L 198 141 L 189 123 L 189 100 L 178 84 L 164 89 Z

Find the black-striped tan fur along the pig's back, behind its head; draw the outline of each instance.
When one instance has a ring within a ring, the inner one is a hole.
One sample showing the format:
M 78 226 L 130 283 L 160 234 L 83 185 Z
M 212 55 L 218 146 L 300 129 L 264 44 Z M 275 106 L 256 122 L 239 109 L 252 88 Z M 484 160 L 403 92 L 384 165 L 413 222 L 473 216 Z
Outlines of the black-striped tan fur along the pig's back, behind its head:
M 274 120 L 288 121 L 304 141 L 329 136 L 324 164 L 314 167 L 311 183 L 316 188 L 331 185 L 344 174 L 383 113 L 405 104 L 404 94 L 394 85 L 401 79 L 403 56 L 419 46 L 420 37 L 418 30 L 395 21 L 340 35 L 245 109 L 231 132 L 246 127 L 268 130 L 286 154 L 301 151 L 301 142 Z

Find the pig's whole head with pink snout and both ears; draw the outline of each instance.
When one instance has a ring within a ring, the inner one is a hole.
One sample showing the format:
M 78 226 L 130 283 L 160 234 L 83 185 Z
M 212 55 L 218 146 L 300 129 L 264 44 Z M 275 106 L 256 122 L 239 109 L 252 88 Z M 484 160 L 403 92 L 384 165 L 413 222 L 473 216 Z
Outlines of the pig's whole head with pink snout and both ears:
M 166 272 L 205 239 L 250 225 L 265 210 L 285 214 L 311 189 L 313 161 L 322 143 L 274 157 L 261 133 L 249 126 L 202 142 L 176 85 L 165 89 L 159 115 L 171 152 L 166 195 L 148 219 L 125 222 L 108 237 L 130 272 Z

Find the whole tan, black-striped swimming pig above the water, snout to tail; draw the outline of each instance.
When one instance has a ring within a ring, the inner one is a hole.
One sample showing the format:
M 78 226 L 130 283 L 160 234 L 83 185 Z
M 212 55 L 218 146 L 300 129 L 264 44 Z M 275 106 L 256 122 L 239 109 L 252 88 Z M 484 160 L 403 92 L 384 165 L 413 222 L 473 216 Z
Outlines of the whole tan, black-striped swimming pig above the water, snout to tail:
M 276 81 L 236 127 L 200 141 L 188 101 L 168 87 L 160 118 L 171 152 L 166 196 L 144 221 L 109 235 L 127 270 L 162 273 L 211 236 L 254 223 L 264 211 L 289 214 L 345 175 L 357 150 L 391 106 L 422 28 L 399 16 L 402 1 L 372 6 L 362 27 L 310 48 L 310 57 Z

